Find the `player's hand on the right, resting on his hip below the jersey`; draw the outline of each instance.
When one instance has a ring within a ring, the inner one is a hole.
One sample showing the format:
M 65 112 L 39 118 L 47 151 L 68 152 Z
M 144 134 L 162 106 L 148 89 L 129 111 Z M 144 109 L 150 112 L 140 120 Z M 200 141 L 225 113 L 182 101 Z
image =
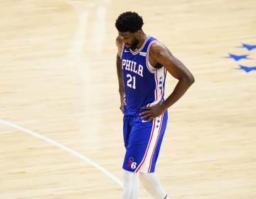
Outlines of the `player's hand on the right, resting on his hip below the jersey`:
M 164 109 L 162 102 L 159 102 L 153 107 L 141 107 L 141 109 L 147 109 L 147 111 L 139 114 L 141 119 L 149 118 L 148 122 L 151 122 L 154 118 L 158 117 L 161 114 L 164 114 L 166 109 Z

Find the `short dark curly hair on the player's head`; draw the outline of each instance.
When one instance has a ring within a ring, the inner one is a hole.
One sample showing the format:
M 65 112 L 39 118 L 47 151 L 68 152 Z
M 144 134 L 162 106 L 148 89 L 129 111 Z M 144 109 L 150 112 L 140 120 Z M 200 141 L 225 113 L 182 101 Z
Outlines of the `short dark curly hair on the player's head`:
M 142 16 L 139 16 L 136 12 L 128 11 L 118 16 L 115 26 L 119 32 L 135 33 L 142 30 L 143 24 Z

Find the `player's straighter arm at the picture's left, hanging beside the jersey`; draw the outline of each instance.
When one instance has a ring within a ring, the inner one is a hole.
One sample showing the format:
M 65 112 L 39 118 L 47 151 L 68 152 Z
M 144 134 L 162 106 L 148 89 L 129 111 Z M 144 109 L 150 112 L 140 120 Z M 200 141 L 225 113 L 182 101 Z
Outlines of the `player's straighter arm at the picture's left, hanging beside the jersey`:
M 121 53 L 122 53 L 122 39 L 117 36 L 116 39 L 116 45 L 117 45 L 117 77 L 118 77 L 118 85 L 119 85 L 119 95 L 120 95 L 120 109 L 124 113 L 124 77 L 122 72 L 122 60 L 121 60 Z

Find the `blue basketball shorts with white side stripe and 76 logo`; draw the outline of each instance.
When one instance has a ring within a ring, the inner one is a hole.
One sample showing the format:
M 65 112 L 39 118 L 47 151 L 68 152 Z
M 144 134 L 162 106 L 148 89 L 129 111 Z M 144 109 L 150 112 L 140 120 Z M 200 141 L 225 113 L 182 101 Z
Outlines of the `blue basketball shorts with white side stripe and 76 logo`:
M 151 122 L 139 116 L 124 116 L 124 170 L 154 173 L 167 119 L 167 111 Z

